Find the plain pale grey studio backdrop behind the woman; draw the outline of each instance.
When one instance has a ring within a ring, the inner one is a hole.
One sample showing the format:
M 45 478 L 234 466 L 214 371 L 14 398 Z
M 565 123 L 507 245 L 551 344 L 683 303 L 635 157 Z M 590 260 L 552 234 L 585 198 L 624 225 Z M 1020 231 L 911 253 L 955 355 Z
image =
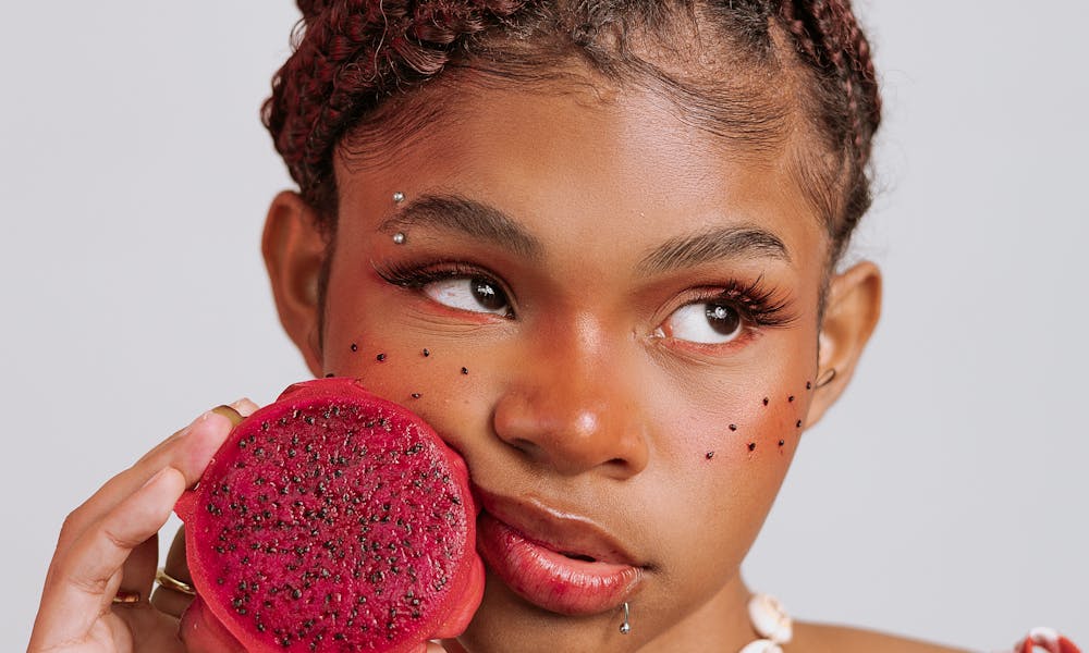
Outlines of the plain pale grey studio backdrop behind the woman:
M 857 9 L 886 121 L 854 256 L 883 267 L 885 312 L 746 577 L 805 619 L 977 650 L 1047 624 L 1087 644 L 1089 3 Z M 198 412 L 307 373 L 258 252 L 290 186 L 258 107 L 294 5 L 3 13 L 0 649 L 16 651 L 71 509 Z

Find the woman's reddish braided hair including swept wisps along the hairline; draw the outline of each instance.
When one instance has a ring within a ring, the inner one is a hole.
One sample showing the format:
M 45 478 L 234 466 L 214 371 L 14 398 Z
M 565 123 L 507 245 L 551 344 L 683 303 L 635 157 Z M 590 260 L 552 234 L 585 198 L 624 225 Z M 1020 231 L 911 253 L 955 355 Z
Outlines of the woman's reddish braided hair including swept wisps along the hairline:
M 683 39 L 676 28 L 685 20 L 697 29 L 713 26 L 732 61 L 800 72 L 800 109 L 822 151 L 816 165 L 795 168 L 828 230 L 830 263 L 869 208 L 867 163 L 881 98 L 851 0 L 297 2 L 303 20 L 293 33 L 293 53 L 273 77 L 262 120 L 304 199 L 330 229 L 337 213 L 334 148 L 360 124 L 381 120 L 394 98 L 452 70 L 475 66 L 531 82 L 575 58 L 610 78 L 654 77 L 680 104 L 701 103 L 705 113 L 708 107 L 714 113 L 729 103 L 722 88 L 737 90 L 721 70 L 710 85 L 686 85 L 639 59 L 632 45 L 650 35 L 678 51 Z M 730 97 L 737 95 L 746 94 Z M 752 101 L 743 109 L 727 112 L 724 122 L 733 128 L 715 133 L 748 137 L 752 145 L 782 131 L 783 110 L 774 102 Z

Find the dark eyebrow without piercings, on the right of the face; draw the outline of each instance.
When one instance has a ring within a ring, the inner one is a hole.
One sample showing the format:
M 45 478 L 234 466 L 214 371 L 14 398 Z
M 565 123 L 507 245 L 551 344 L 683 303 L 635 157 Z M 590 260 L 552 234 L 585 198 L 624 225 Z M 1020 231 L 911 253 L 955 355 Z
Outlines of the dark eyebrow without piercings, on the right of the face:
M 771 258 L 790 262 L 786 245 L 775 234 L 752 225 L 714 229 L 670 238 L 639 261 L 644 274 L 662 274 L 722 259 Z

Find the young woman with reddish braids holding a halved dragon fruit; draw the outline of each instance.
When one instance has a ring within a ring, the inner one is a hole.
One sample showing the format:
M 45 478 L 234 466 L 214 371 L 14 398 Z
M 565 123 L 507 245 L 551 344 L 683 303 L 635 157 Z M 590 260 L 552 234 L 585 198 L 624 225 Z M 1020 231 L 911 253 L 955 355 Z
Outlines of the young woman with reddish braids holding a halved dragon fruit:
M 881 107 L 846 0 L 299 5 L 266 107 L 299 190 L 264 254 L 310 371 L 418 393 L 468 465 L 488 584 L 448 650 L 949 650 L 768 630 L 739 576 L 880 311 L 878 269 L 839 266 Z M 32 651 L 231 649 L 144 600 L 229 428 L 201 416 L 72 514 Z M 555 592 L 511 532 L 592 562 Z

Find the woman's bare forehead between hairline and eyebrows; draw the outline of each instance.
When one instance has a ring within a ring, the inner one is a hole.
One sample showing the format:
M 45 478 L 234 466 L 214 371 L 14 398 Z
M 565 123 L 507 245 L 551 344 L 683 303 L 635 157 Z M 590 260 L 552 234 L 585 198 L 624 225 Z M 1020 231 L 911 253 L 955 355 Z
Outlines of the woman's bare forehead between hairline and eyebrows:
M 500 208 L 566 248 L 611 247 L 617 234 L 653 247 L 756 225 L 796 264 L 823 261 L 825 232 L 791 173 L 791 137 L 741 146 L 640 88 L 480 87 L 438 98 L 425 106 L 428 120 L 389 132 L 400 139 L 335 158 L 342 220 L 392 211 L 393 190 L 439 192 Z

